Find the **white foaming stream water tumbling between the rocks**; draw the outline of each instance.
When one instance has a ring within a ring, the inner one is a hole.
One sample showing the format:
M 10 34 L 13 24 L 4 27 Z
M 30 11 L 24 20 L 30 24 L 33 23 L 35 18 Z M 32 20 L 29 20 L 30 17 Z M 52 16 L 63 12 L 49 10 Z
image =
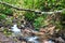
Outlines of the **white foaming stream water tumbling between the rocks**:
M 22 33 L 22 32 L 21 32 L 21 29 L 17 28 L 17 25 L 16 25 L 16 24 L 13 25 L 13 27 L 11 27 L 11 28 L 12 28 L 12 31 L 13 31 L 13 33 L 14 33 L 15 35 L 18 35 L 20 33 Z M 32 32 L 36 32 L 36 31 L 32 30 Z M 36 37 L 36 35 L 34 35 L 34 37 L 25 37 L 24 39 L 25 39 L 27 42 L 30 42 L 30 43 L 40 43 L 40 42 L 38 41 L 39 37 Z M 51 40 L 49 40 L 49 41 L 44 41 L 43 43 L 54 43 L 54 42 L 51 41 Z

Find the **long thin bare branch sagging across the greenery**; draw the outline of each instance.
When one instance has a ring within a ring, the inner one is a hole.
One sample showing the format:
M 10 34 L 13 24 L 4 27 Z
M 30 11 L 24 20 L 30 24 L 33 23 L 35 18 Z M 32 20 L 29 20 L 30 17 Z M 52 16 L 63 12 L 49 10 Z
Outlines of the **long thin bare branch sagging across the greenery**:
M 9 3 L 2 2 L 2 1 L 0 1 L 0 4 L 16 9 L 18 11 L 35 12 L 35 13 L 38 13 L 38 14 L 53 14 L 53 13 L 62 13 L 63 11 L 65 11 L 65 9 L 63 9 L 63 10 L 54 11 L 54 12 L 41 12 L 41 11 L 35 11 L 35 10 L 30 10 L 30 9 L 21 9 L 21 8 L 14 6 L 12 4 L 9 4 Z

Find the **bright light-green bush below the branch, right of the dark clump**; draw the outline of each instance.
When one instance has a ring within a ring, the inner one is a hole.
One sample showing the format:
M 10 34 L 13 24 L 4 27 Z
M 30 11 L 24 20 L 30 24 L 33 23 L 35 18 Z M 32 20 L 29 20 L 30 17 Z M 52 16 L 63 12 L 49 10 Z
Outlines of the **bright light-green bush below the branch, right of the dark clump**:
M 41 27 L 47 26 L 47 24 L 44 22 L 46 20 L 46 17 L 44 16 L 39 16 L 39 17 L 35 18 L 35 22 L 34 22 L 35 29 L 39 29 Z

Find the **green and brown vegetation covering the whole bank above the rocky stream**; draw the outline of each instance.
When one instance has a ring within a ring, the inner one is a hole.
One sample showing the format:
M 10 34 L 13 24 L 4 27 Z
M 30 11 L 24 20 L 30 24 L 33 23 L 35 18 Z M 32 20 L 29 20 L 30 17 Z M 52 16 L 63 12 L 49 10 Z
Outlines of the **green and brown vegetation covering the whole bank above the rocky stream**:
M 4 28 L 10 29 L 14 24 L 17 24 L 18 28 L 23 28 L 21 25 L 28 27 L 30 23 L 29 26 L 38 31 L 52 26 L 55 26 L 55 31 L 65 29 L 65 0 L 0 0 L 0 2 L 6 3 L 0 3 L 0 20 Z M 6 30 L 4 33 L 11 34 Z

